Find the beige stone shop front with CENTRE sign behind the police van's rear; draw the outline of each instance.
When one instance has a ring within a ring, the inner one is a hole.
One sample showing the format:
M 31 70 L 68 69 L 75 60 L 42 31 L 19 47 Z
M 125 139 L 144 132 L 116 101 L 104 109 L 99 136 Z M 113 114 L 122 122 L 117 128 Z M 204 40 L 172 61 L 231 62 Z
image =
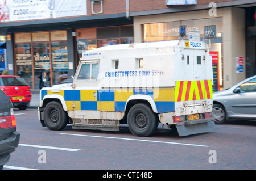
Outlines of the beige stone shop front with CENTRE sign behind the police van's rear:
M 135 17 L 135 43 L 179 40 L 180 25 L 186 26 L 185 40 L 190 39 L 190 32 L 200 32 L 200 41 L 204 41 L 204 26 L 216 25 L 216 39 L 211 45 L 207 41 L 213 64 L 213 91 L 226 89 L 245 78 L 245 62 L 242 62 L 242 69 L 236 68 L 237 57 L 245 58 L 245 14 L 243 10 L 233 8 L 218 9 L 217 12 L 216 16 L 202 10 Z

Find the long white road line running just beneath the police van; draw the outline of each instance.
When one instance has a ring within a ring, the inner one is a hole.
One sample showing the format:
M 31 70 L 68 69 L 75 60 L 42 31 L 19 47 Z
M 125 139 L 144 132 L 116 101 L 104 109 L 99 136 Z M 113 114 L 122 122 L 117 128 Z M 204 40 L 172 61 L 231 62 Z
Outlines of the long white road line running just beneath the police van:
M 117 140 L 156 142 L 156 143 L 162 143 L 162 144 L 175 144 L 175 145 L 187 145 L 187 146 L 209 147 L 209 146 L 207 146 L 207 145 L 183 144 L 183 143 L 181 143 L 181 142 L 167 142 L 167 141 L 141 140 L 141 139 L 121 138 L 121 137 L 108 137 L 108 136 L 92 136 L 92 135 L 85 135 L 85 134 L 69 134 L 69 133 L 59 133 L 59 134 L 65 134 L 65 135 L 71 135 L 71 136 L 96 137 L 96 138 L 110 138 L 110 139 L 117 139 Z

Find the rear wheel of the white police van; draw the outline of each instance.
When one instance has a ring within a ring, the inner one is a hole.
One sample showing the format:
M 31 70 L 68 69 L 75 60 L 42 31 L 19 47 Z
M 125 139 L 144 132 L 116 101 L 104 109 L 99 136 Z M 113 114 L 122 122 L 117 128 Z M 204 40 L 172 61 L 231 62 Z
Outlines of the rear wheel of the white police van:
M 135 136 L 152 136 L 158 127 L 155 113 L 146 104 L 135 104 L 127 115 L 127 124 Z

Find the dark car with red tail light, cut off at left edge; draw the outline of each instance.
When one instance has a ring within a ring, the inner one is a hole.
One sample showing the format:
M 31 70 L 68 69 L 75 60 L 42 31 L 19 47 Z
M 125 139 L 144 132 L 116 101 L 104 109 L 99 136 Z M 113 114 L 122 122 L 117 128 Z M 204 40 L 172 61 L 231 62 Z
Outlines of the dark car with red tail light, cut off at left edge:
M 16 131 L 13 104 L 0 90 L 0 169 L 3 169 L 3 165 L 10 159 L 10 154 L 18 147 L 19 136 L 19 132 Z

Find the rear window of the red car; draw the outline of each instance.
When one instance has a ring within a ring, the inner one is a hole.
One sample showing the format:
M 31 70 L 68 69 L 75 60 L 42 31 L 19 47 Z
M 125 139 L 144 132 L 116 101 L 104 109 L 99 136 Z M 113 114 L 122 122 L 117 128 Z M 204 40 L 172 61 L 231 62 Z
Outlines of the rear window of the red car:
M 21 77 L 1 77 L 1 86 L 27 86 L 27 82 Z

